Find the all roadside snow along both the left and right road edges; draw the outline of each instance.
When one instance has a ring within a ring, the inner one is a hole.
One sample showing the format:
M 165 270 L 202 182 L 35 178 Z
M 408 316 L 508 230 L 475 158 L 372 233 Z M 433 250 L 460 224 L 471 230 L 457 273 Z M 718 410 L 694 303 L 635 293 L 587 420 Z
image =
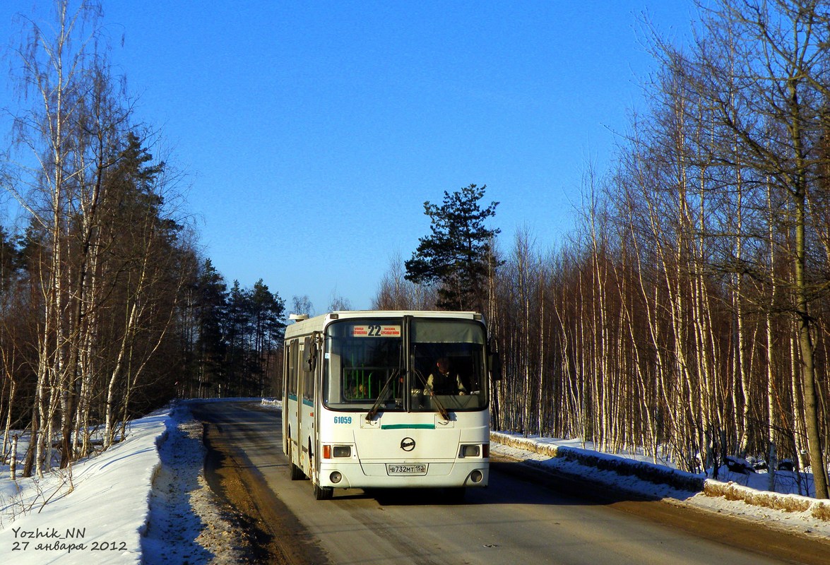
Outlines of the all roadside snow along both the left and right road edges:
M 252 399 L 246 399 L 252 400 Z M 280 402 L 263 401 L 280 409 Z M 551 444 L 579 441 L 523 438 L 491 451 L 528 465 L 540 465 L 583 480 L 688 504 L 799 533 L 830 536 L 830 521 L 808 511 L 783 512 L 638 479 L 635 475 L 552 456 Z M 232 509 L 217 499 L 203 476 L 202 426 L 186 402 L 170 411 L 133 421 L 125 441 L 41 480 L 8 479 L 0 466 L 0 563 L 86 565 L 87 563 L 241 563 L 247 538 Z M 618 456 L 593 452 L 605 462 Z M 602 466 L 607 466 L 603 465 Z M 709 481 L 707 481 L 708 484 Z M 727 485 L 740 496 L 748 489 Z M 792 495 L 783 495 L 792 496 Z M 752 497 L 749 497 L 752 498 Z M 796 497 L 803 498 L 803 497 Z M 44 504 L 48 500 L 48 504 Z M 814 504 L 813 499 L 805 499 Z

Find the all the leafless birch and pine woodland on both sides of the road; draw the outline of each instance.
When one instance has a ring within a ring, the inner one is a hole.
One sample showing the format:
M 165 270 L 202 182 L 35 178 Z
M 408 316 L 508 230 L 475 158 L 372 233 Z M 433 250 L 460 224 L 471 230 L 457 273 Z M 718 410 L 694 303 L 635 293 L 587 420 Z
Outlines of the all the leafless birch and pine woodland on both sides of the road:
M 28 104 L 0 164 L 28 219 L 0 231 L 2 455 L 31 434 L 25 475 L 119 441 L 171 398 L 281 382 L 285 300 L 228 285 L 203 256 L 100 10 L 67 5 L 48 28 L 27 22 L 14 78 Z M 486 315 L 504 375 L 494 429 L 695 472 L 789 461 L 828 498 L 830 2 L 717 0 L 682 46 L 643 30 L 656 70 L 608 167 L 585 167 L 569 236 L 505 240 L 486 186 L 444 192 L 372 306 Z

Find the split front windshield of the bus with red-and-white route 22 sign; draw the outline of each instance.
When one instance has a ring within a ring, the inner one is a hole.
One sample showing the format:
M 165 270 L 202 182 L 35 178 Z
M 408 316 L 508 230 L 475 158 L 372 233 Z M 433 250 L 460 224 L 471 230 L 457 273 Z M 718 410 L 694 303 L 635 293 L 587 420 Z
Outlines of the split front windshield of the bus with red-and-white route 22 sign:
M 323 400 L 334 410 L 482 410 L 486 374 L 484 329 L 472 320 L 343 319 L 326 329 Z

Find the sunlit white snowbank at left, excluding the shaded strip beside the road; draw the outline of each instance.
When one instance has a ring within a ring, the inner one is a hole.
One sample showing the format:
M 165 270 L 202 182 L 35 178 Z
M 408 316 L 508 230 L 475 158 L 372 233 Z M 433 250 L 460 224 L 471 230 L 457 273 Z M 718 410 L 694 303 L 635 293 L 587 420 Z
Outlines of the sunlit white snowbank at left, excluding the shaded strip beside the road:
M 167 412 L 131 422 L 125 441 L 43 479 L 0 480 L 0 563 L 140 563 L 147 498 Z M 48 504 L 46 504 L 48 501 Z

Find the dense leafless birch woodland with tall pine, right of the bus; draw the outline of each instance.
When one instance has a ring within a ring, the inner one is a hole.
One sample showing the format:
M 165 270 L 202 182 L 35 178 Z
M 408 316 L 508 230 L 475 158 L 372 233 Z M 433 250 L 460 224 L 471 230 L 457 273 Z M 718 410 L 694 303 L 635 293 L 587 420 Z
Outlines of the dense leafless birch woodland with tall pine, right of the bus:
M 695 24 L 682 47 L 647 34 L 644 109 L 607 170 L 586 167 L 569 237 L 461 245 L 436 273 L 425 241 L 475 241 L 448 218 L 496 213 L 445 192 L 455 215 L 427 202 L 432 235 L 374 305 L 441 302 L 478 261 L 478 295 L 456 306 L 485 312 L 505 365 L 494 428 L 696 472 L 780 461 L 828 498 L 830 4 L 720 0 Z

